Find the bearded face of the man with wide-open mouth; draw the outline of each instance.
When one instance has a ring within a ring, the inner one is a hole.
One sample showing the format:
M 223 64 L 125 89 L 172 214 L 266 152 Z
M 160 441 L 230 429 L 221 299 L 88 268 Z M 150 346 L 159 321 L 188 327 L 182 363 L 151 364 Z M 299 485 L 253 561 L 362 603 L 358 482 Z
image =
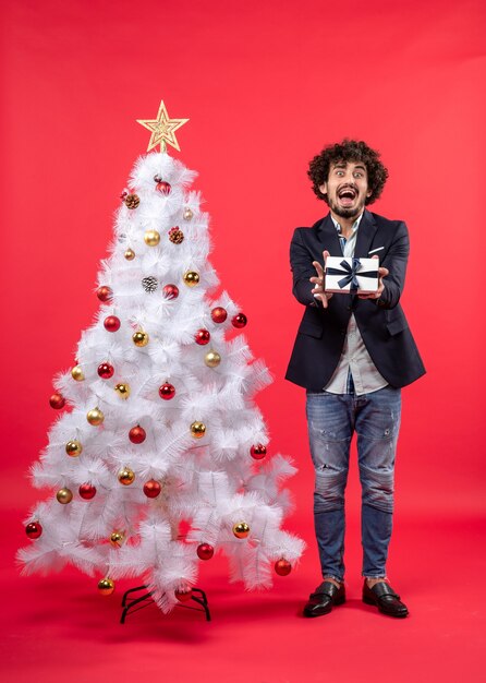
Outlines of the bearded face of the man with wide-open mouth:
M 330 209 L 342 218 L 355 218 L 364 208 L 368 189 L 368 173 L 361 161 L 337 161 L 329 168 L 329 178 L 319 187 L 327 194 Z

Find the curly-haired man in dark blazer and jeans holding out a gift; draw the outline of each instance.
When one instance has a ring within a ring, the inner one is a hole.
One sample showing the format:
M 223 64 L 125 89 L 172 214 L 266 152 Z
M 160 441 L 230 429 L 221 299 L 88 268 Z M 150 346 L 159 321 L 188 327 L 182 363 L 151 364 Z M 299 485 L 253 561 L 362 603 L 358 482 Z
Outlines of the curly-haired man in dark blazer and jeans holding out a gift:
M 408 609 L 387 583 L 393 511 L 393 468 L 400 388 L 425 369 L 400 307 L 409 257 L 401 220 L 365 206 L 379 197 L 388 171 L 364 142 L 343 140 L 309 165 L 313 190 L 330 213 L 296 228 L 290 248 L 293 293 L 305 305 L 285 378 L 307 391 L 315 468 L 314 520 L 323 583 L 305 616 L 327 614 L 345 600 L 344 489 L 350 444 L 357 434 L 362 486 L 363 600 L 390 616 Z M 379 259 L 378 290 L 326 293 L 328 255 Z

